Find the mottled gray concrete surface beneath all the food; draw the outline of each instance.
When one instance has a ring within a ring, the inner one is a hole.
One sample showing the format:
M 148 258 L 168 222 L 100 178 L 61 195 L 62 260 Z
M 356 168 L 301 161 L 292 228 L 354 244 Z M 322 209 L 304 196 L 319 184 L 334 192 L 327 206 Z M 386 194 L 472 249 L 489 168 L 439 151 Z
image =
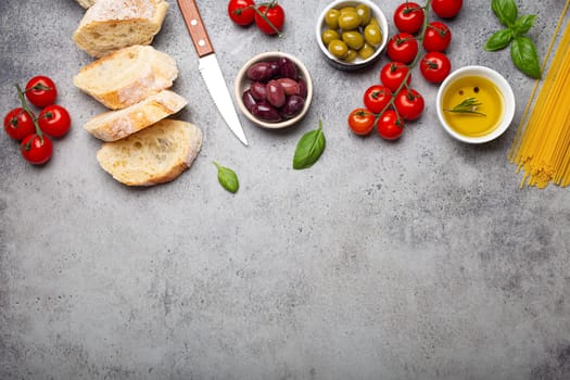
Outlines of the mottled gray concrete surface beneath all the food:
M 570 379 L 570 194 L 519 189 L 506 157 L 515 127 L 481 147 L 452 140 L 436 86 L 416 71 L 421 119 L 395 143 L 355 137 L 346 115 L 387 59 L 360 73 L 328 66 L 313 35 L 328 1 L 282 1 L 281 39 L 233 26 L 225 1 L 199 1 L 229 86 L 269 50 L 314 76 L 307 117 L 278 132 L 242 117 L 244 148 L 169 3 L 154 46 L 177 60 L 174 89 L 189 99 L 179 117 L 205 140 L 178 180 L 141 190 L 98 166 L 100 143 L 81 128 L 102 111 L 72 85 L 90 62 L 71 41 L 83 9 L 0 2 L 3 112 L 17 105 L 13 83 L 46 74 L 74 117 L 46 167 L 0 138 L 0 379 Z M 518 3 L 539 15 L 543 56 L 563 1 Z M 482 50 L 498 28 L 490 1 L 466 1 L 449 25 L 453 66 L 506 76 L 517 124 L 532 81 L 507 51 Z M 319 119 L 326 152 L 291 169 Z M 236 169 L 237 194 L 213 160 Z

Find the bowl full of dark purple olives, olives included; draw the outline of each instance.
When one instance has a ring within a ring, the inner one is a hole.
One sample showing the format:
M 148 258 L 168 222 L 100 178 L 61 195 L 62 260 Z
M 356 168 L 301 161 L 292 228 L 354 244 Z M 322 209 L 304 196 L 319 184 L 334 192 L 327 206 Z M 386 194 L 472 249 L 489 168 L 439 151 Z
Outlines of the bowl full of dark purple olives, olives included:
M 245 117 L 269 129 L 296 124 L 313 99 L 313 81 L 305 65 L 280 51 L 250 59 L 238 73 L 235 90 Z

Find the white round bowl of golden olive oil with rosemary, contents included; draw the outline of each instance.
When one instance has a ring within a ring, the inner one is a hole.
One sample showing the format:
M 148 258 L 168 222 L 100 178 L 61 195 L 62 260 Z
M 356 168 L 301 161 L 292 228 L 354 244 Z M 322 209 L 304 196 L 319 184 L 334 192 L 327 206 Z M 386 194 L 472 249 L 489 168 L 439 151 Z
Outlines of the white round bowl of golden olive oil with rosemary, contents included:
M 438 91 L 438 117 L 459 141 L 496 139 L 512 122 L 515 94 L 508 81 L 485 66 L 465 66 L 445 78 Z

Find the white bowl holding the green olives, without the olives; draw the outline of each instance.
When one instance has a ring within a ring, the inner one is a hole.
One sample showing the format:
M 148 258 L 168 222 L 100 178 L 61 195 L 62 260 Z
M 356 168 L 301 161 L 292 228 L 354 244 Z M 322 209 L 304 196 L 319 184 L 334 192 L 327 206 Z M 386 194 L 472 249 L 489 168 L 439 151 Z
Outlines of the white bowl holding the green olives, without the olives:
M 329 49 L 325 46 L 321 39 L 322 31 L 328 28 L 327 24 L 325 23 L 325 16 L 331 9 L 341 9 L 344 7 L 355 7 L 357 4 L 365 4 L 370 8 L 371 16 L 376 17 L 378 21 L 378 24 L 380 24 L 380 29 L 382 31 L 382 42 L 376 47 L 375 53 L 368 58 L 367 60 L 362 60 L 360 58 L 356 58 L 353 62 L 346 62 L 341 59 L 338 59 L 337 56 L 332 55 L 329 52 Z M 317 25 L 315 28 L 315 34 L 317 38 L 317 43 L 325 56 L 327 58 L 327 62 L 329 62 L 333 67 L 344 69 L 344 71 L 355 71 L 360 69 L 364 67 L 369 66 L 370 64 L 375 63 L 380 59 L 382 51 L 385 48 L 385 45 L 388 42 L 388 22 L 385 18 L 384 13 L 382 10 L 372 1 L 370 0 L 357 0 L 357 1 L 346 1 L 346 0 L 335 0 L 327 5 L 320 13 L 320 15 L 317 18 Z

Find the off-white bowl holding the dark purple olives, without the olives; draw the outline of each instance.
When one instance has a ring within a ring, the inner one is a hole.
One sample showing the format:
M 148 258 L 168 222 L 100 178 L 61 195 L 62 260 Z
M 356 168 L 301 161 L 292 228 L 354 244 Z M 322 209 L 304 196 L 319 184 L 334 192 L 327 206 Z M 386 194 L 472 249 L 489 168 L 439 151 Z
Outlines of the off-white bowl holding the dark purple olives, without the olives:
M 289 59 L 291 62 L 293 62 L 296 65 L 299 77 L 303 79 L 306 84 L 307 96 L 305 98 L 305 104 L 303 106 L 303 110 L 297 115 L 295 115 L 292 118 L 288 118 L 288 119 L 284 119 L 278 123 L 271 123 L 271 122 L 266 122 L 266 121 L 255 117 L 243 104 L 242 96 L 243 96 L 243 92 L 248 90 L 252 84 L 252 80 L 249 79 L 246 75 L 248 68 L 250 68 L 253 64 L 257 62 L 275 61 L 281 56 Z M 245 117 L 248 117 L 252 123 L 256 124 L 259 127 L 264 127 L 268 129 L 280 129 L 280 128 L 290 127 L 296 124 L 307 113 L 308 109 L 311 107 L 311 102 L 313 100 L 313 79 L 311 78 L 311 74 L 308 73 L 308 69 L 305 67 L 303 62 L 301 62 L 297 58 L 291 54 L 288 54 L 288 53 L 280 52 L 280 51 L 271 51 L 271 52 L 257 54 L 253 56 L 252 59 L 250 59 L 248 62 L 245 62 L 245 64 L 241 67 L 241 69 L 238 72 L 238 75 L 236 77 L 235 92 L 236 92 L 236 101 L 238 103 L 238 106 L 241 113 L 243 113 L 243 115 L 245 115 Z

